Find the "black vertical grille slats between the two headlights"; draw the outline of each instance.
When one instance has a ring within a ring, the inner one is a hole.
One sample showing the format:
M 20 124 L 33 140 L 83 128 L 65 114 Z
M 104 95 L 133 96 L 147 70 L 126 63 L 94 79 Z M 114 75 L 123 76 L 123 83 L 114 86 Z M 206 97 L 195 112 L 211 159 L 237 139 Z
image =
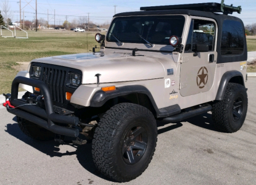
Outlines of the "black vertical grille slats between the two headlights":
M 57 68 L 42 67 L 41 73 L 42 78 L 40 80 L 48 85 L 52 100 L 63 104 L 67 72 Z

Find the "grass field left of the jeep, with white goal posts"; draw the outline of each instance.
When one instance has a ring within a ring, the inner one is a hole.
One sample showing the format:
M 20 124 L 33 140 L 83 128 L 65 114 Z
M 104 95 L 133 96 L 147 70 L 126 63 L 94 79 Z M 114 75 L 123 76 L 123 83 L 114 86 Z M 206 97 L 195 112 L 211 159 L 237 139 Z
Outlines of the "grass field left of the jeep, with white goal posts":
M 18 72 L 16 69 L 19 64 L 16 62 L 30 62 L 41 57 L 87 52 L 95 45 L 99 47 L 94 39 L 95 34 L 42 30 L 28 31 L 28 39 L 0 37 L 0 94 L 10 92 L 12 80 Z

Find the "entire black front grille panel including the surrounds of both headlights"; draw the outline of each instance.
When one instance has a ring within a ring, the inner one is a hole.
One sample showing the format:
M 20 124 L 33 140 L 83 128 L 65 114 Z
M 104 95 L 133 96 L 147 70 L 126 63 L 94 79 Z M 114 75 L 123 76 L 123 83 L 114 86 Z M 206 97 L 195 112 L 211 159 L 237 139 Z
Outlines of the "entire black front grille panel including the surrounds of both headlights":
M 41 67 L 41 75 L 39 78 L 33 76 L 34 65 Z M 80 70 L 59 65 L 33 62 L 30 67 L 30 77 L 46 83 L 49 87 L 52 101 L 60 104 L 68 104 L 69 101 L 66 100 L 65 93 L 71 92 L 73 94 L 75 89 L 78 88 L 77 86 L 69 84 L 70 73 L 78 73 L 80 76 L 82 75 Z M 35 93 L 38 94 L 38 92 Z

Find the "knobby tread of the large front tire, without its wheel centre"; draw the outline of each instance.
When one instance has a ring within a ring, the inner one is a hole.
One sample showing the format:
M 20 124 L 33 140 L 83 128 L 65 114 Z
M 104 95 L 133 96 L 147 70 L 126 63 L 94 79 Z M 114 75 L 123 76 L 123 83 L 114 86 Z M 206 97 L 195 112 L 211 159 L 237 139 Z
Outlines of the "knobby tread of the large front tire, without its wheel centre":
M 146 115 L 146 117 L 150 118 L 153 121 L 153 123 L 155 123 L 155 118 L 148 109 L 142 107 L 141 105 L 130 103 L 122 103 L 115 105 L 110 110 L 108 110 L 101 118 L 101 121 L 99 122 L 94 133 L 92 152 L 93 160 L 96 164 L 97 169 L 101 171 L 101 173 L 104 174 L 105 176 L 108 176 L 109 178 L 115 179 L 116 181 L 120 182 L 130 181 L 131 179 L 135 179 L 139 175 L 141 175 L 151 162 L 157 143 L 156 126 L 156 129 L 154 130 L 156 138 L 155 146 L 147 162 L 146 167 L 142 168 L 139 174 L 136 176 L 118 176 L 117 169 L 115 169 L 115 167 L 117 167 L 117 164 L 114 163 L 115 154 L 112 148 L 115 135 L 118 132 L 118 128 L 120 128 L 120 126 L 124 124 L 129 117 L 132 117 L 134 114 L 138 115 L 141 112 L 143 112 L 144 115 Z

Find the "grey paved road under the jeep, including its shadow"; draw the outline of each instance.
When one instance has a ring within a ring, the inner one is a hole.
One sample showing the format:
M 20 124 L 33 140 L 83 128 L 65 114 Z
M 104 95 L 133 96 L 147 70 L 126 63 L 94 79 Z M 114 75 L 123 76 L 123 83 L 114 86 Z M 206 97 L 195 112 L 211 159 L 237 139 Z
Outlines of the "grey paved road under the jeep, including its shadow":
M 216 131 L 210 113 L 159 125 L 151 164 L 123 184 L 256 184 L 255 83 L 256 78 L 247 82 L 249 109 L 240 131 Z M 0 184 L 118 184 L 97 172 L 91 144 L 35 142 L 5 109 L 0 116 Z

